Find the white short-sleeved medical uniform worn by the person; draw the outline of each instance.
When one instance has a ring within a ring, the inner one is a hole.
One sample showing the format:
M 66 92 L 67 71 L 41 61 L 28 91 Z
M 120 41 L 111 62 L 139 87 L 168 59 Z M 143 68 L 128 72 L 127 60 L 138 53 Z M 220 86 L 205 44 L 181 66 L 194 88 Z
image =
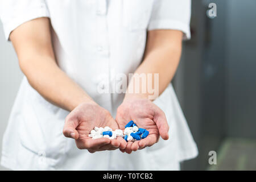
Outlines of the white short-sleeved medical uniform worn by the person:
M 142 61 L 147 30 L 174 29 L 190 37 L 190 0 L 0 0 L 6 39 L 28 20 L 51 19 L 59 67 L 115 117 L 124 94 L 99 93 L 117 73 L 134 73 Z M 32 170 L 179 169 L 197 147 L 171 84 L 154 103 L 166 114 L 170 139 L 123 154 L 79 150 L 62 131 L 68 111 L 50 104 L 26 77 L 3 137 L 1 164 Z M 128 122 L 128 121 L 127 121 Z

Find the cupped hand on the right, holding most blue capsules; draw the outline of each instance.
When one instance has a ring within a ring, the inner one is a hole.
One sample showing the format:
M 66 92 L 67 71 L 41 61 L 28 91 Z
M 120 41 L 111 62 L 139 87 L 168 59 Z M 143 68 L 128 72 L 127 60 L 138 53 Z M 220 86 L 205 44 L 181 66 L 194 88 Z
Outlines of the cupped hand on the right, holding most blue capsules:
M 149 131 L 146 138 L 135 142 L 128 142 L 122 152 L 130 154 L 147 146 L 152 146 L 159 140 L 159 135 L 167 140 L 169 126 L 164 112 L 153 102 L 147 99 L 126 100 L 118 107 L 115 120 L 119 129 L 125 129 L 127 122 L 133 120 L 140 128 Z

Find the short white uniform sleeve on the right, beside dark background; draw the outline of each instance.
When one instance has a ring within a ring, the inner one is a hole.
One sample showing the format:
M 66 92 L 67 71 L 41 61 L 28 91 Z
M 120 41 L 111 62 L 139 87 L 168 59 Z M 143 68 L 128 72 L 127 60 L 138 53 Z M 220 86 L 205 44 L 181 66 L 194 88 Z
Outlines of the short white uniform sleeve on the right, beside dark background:
M 172 29 L 190 39 L 191 0 L 155 0 L 148 30 Z

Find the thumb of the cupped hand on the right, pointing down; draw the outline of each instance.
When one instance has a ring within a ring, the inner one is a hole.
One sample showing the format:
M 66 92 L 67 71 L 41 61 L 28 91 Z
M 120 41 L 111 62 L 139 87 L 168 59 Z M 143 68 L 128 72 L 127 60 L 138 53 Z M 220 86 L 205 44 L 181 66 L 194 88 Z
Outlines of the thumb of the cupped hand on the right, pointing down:
M 159 134 L 164 140 L 168 140 L 169 138 L 169 125 L 166 119 L 166 115 L 161 109 L 157 109 L 154 117 L 154 121 L 156 126 L 158 127 Z

